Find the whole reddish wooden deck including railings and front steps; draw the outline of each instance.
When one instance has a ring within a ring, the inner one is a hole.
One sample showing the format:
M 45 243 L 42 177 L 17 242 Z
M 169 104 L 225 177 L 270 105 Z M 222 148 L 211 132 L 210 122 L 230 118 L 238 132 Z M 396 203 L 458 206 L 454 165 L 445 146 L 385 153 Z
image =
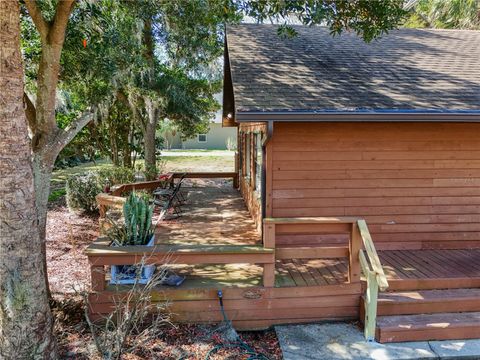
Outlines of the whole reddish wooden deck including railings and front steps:
M 238 329 L 363 318 L 366 283 L 359 271 L 352 271 L 349 257 L 353 240 L 361 235 L 355 227 L 363 220 L 270 219 L 266 223 L 270 235 L 264 233 L 262 241 L 240 193 L 230 184 L 190 185 L 183 190 L 187 198 L 183 215 L 158 225 L 157 246 L 148 258 L 159 265 L 172 255 L 176 260 L 164 266 L 186 278 L 179 287 L 161 286 L 152 292 L 152 301 L 168 301 L 172 320 L 221 321 L 218 290 Z M 328 241 L 339 232 L 342 242 Z M 305 243 L 294 246 L 293 238 Z M 88 254 L 90 312 L 97 318 L 112 311 L 116 299 L 129 289 L 109 285 L 108 266 L 135 263 L 132 259 L 150 251 L 112 249 L 104 242 L 99 238 Z M 448 319 L 455 319 L 457 315 L 449 315 L 455 312 L 480 314 L 478 292 L 470 289 L 480 287 L 480 249 L 383 250 L 378 255 L 389 292 L 379 294 L 377 339 L 408 340 L 411 333 L 402 331 L 411 324 L 424 327 L 415 339 L 446 336 L 430 330 L 430 318 L 422 315 L 425 311 L 432 313 L 434 323 L 443 319 L 438 314 Z M 270 275 L 265 276 L 266 269 Z M 466 328 L 459 327 L 455 337 L 465 334 Z

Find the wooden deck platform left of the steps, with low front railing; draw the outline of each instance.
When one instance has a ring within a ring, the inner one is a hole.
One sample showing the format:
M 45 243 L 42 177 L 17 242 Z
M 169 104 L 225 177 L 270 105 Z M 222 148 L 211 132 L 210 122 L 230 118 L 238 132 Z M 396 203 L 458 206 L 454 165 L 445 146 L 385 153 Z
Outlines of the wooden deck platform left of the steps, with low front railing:
M 152 292 L 153 301 L 168 300 L 174 321 L 221 321 L 218 290 L 223 291 L 227 316 L 238 329 L 358 318 L 361 284 L 358 281 L 348 283 L 348 259 L 282 258 L 275 261 L 274 249 L 264 247 L 240 193 L 231 188 L 231 183 L 187 186 L 183 191 L 187 197 L 182 206 L 183 215 L 159 224 L 156 250 L 154 256 L 148 258 L 151 263 L 159 264 L 163 249 L 170 249 L 176 261 L 166 266 L 186 277 L 179 287 L 161 286 Z M 347 223 L 339 223 L 335 228 L 338 226 L 343 229 Z M 212 249 L 235 246 L 263 249 L 265 254 L 255 256 L 272 257 L 272 261 L 257 261 L 251 251 L 241 257 L 222 250 L 221 261 L 218 257 L 212 258 L 217 256 L 212 253 L 217 250 Z M 90 246 L 93 289 L 90 313 L 93 318 L 102 318 L 112 311 L 115 298 L 124 296 L 129 289 L 128 286 L 109 285 L 108 265 L 126 263 L 132 256 L 140 259 L 144 250 L 112 250 L 101 238 Z M 200 253 L 200 250 L 207 253 Z M 268 279 L 269 285 L 265 285 L 267 263 L 271 263 L 271 270 L 274 270 L 274 278 L 271 282 Z

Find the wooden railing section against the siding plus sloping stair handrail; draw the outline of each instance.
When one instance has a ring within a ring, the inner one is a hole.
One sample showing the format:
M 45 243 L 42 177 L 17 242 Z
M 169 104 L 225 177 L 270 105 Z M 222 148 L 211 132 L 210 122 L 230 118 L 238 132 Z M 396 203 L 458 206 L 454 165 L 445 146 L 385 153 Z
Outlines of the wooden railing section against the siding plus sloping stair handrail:
M 346 245 L 296 246 L 277 244 L 280 237 L 345 234 Z M 365 294 L 365 338 L 375 336 L 378 290 L 388 288 L 382 264 L 373 245 L 367 223 L 356 217 L 299 217 L 264 219 L 263 243 L 266 248 L 275 249 L 275 259 L 331 259 L 348 258 L 348 282 L 359 283 L 361 273 L 366 278 Z M 275 268 L 269 269 L 272 274 Z M 268 276 L 268 275 L 267 275 Z M 273 275 L 271 275 L 273 276 Z

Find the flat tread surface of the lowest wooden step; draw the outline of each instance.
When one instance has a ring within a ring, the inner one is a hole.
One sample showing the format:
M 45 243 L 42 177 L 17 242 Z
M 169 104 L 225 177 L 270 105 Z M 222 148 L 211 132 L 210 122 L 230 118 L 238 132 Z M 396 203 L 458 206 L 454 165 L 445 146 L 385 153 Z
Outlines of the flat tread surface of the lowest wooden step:
M 379 316 L 377 326 L 382 331 L 449 329 L 473 326 L 480 328 L 480 312 Z

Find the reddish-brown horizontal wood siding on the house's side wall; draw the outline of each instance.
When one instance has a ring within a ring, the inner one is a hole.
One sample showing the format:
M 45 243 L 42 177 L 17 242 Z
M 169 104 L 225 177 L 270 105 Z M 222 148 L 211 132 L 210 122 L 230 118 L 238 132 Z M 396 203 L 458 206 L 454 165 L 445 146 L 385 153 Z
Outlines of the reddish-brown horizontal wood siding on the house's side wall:
M 362 217 L 378 249 L 480 247 L 479 130 L 477 123 L 277 122 L 271 215 Z M 312 239 L 307 230 L 286 241 L 345 241 Z

